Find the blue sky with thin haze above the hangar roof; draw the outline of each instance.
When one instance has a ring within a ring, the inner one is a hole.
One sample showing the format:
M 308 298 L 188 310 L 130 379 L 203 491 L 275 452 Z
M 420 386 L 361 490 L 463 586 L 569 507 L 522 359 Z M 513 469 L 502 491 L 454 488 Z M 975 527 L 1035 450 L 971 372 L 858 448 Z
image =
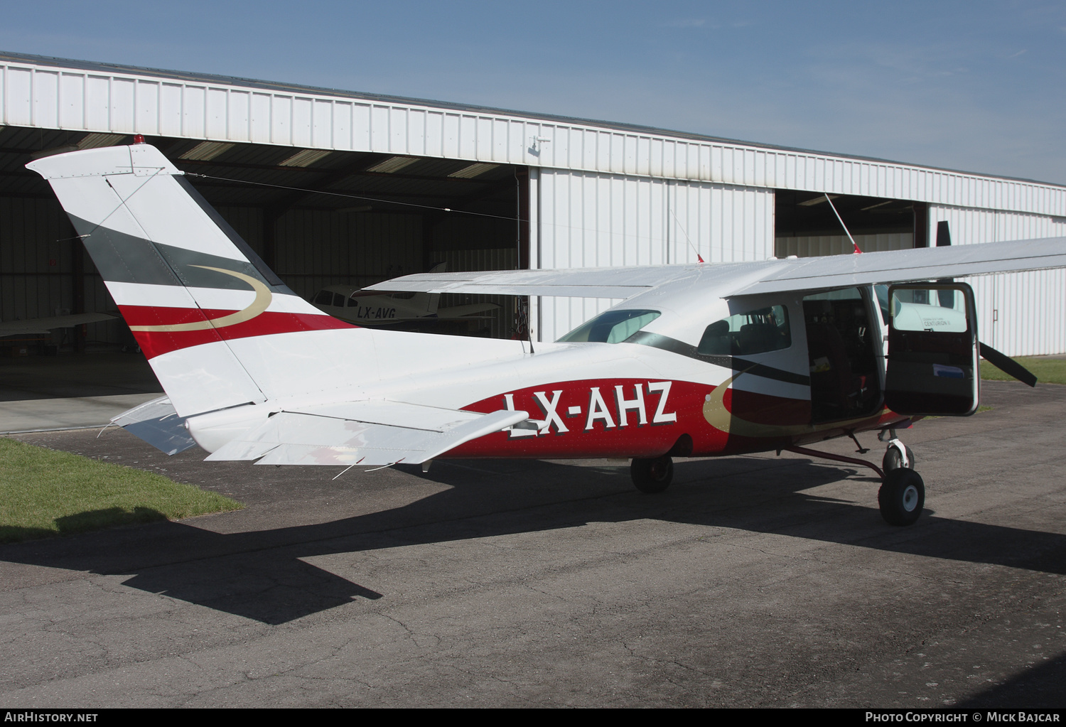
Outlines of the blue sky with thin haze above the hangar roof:
M 1062 2 L 0 0 L 0 50 L 1066 183 Z

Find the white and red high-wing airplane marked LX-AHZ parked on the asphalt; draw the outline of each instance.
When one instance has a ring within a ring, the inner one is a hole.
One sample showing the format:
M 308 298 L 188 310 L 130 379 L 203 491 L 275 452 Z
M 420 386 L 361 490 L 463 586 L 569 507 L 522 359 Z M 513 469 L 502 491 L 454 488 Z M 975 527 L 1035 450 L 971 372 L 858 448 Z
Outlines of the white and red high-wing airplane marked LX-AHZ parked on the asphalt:
M 420 274 L 375 286 L 625 298 L 534 349 L 358 327 L 323 313 L 147 144 L 27 166 L 51 183 L 166 391 L 116 422 L 164 451 L 194 440 L 209 461 L 425 467 L 435 457 L 632 457 L 636 487 L 653 492 L 669 484 L 675 456 L 790 450 L 882 473 L 803 447 L 876 430 L 889 442 L 881 512 L 909 524 L 924 485 L 897 429 L 922 415 L 972 414 L 979 355 L 1001 368 L 1013 361 L 979 343 L 967 285 L 874 286 L 1066 266 L 1066 238 L 1053 238 L 727 264 Z

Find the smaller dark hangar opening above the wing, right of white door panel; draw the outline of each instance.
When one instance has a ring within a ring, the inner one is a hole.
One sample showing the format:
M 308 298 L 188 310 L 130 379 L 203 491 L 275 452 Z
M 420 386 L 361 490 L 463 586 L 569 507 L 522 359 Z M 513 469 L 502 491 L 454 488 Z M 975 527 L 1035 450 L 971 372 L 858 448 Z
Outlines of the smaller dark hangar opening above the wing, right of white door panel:
M 926 205 L 903 199 L 774 191 L 774 255 L 851 254 L 852 243 L 833 211 L 837 208 L 863 253 L 926 247 Z

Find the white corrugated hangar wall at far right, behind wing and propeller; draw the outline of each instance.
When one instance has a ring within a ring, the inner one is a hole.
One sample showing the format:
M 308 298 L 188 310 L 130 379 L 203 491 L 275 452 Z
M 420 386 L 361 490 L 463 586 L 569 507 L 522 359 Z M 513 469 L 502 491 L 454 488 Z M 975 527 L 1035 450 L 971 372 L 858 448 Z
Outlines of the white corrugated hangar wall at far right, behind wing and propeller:
M 1066 236 L 1066 219 L 930 206 L 930 240 L 947 220 L 953 245 Z M 981 339 L 1008 356 L 1066 353 L 1066 270 L 968 278 Z

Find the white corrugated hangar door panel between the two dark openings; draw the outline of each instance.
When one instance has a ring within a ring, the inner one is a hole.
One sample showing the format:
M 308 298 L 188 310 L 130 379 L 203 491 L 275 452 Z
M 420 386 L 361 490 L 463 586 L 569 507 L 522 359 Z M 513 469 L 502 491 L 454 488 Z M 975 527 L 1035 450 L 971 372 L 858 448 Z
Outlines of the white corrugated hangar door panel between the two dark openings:
M 772 190 L 539 169 L 531 175 L 531 268 L 763 260 L 773 255 Z M 532 189 L 535 188 L 535 189 Z M 553 341 L 617 301 L 535 302 L 536 339 Z

